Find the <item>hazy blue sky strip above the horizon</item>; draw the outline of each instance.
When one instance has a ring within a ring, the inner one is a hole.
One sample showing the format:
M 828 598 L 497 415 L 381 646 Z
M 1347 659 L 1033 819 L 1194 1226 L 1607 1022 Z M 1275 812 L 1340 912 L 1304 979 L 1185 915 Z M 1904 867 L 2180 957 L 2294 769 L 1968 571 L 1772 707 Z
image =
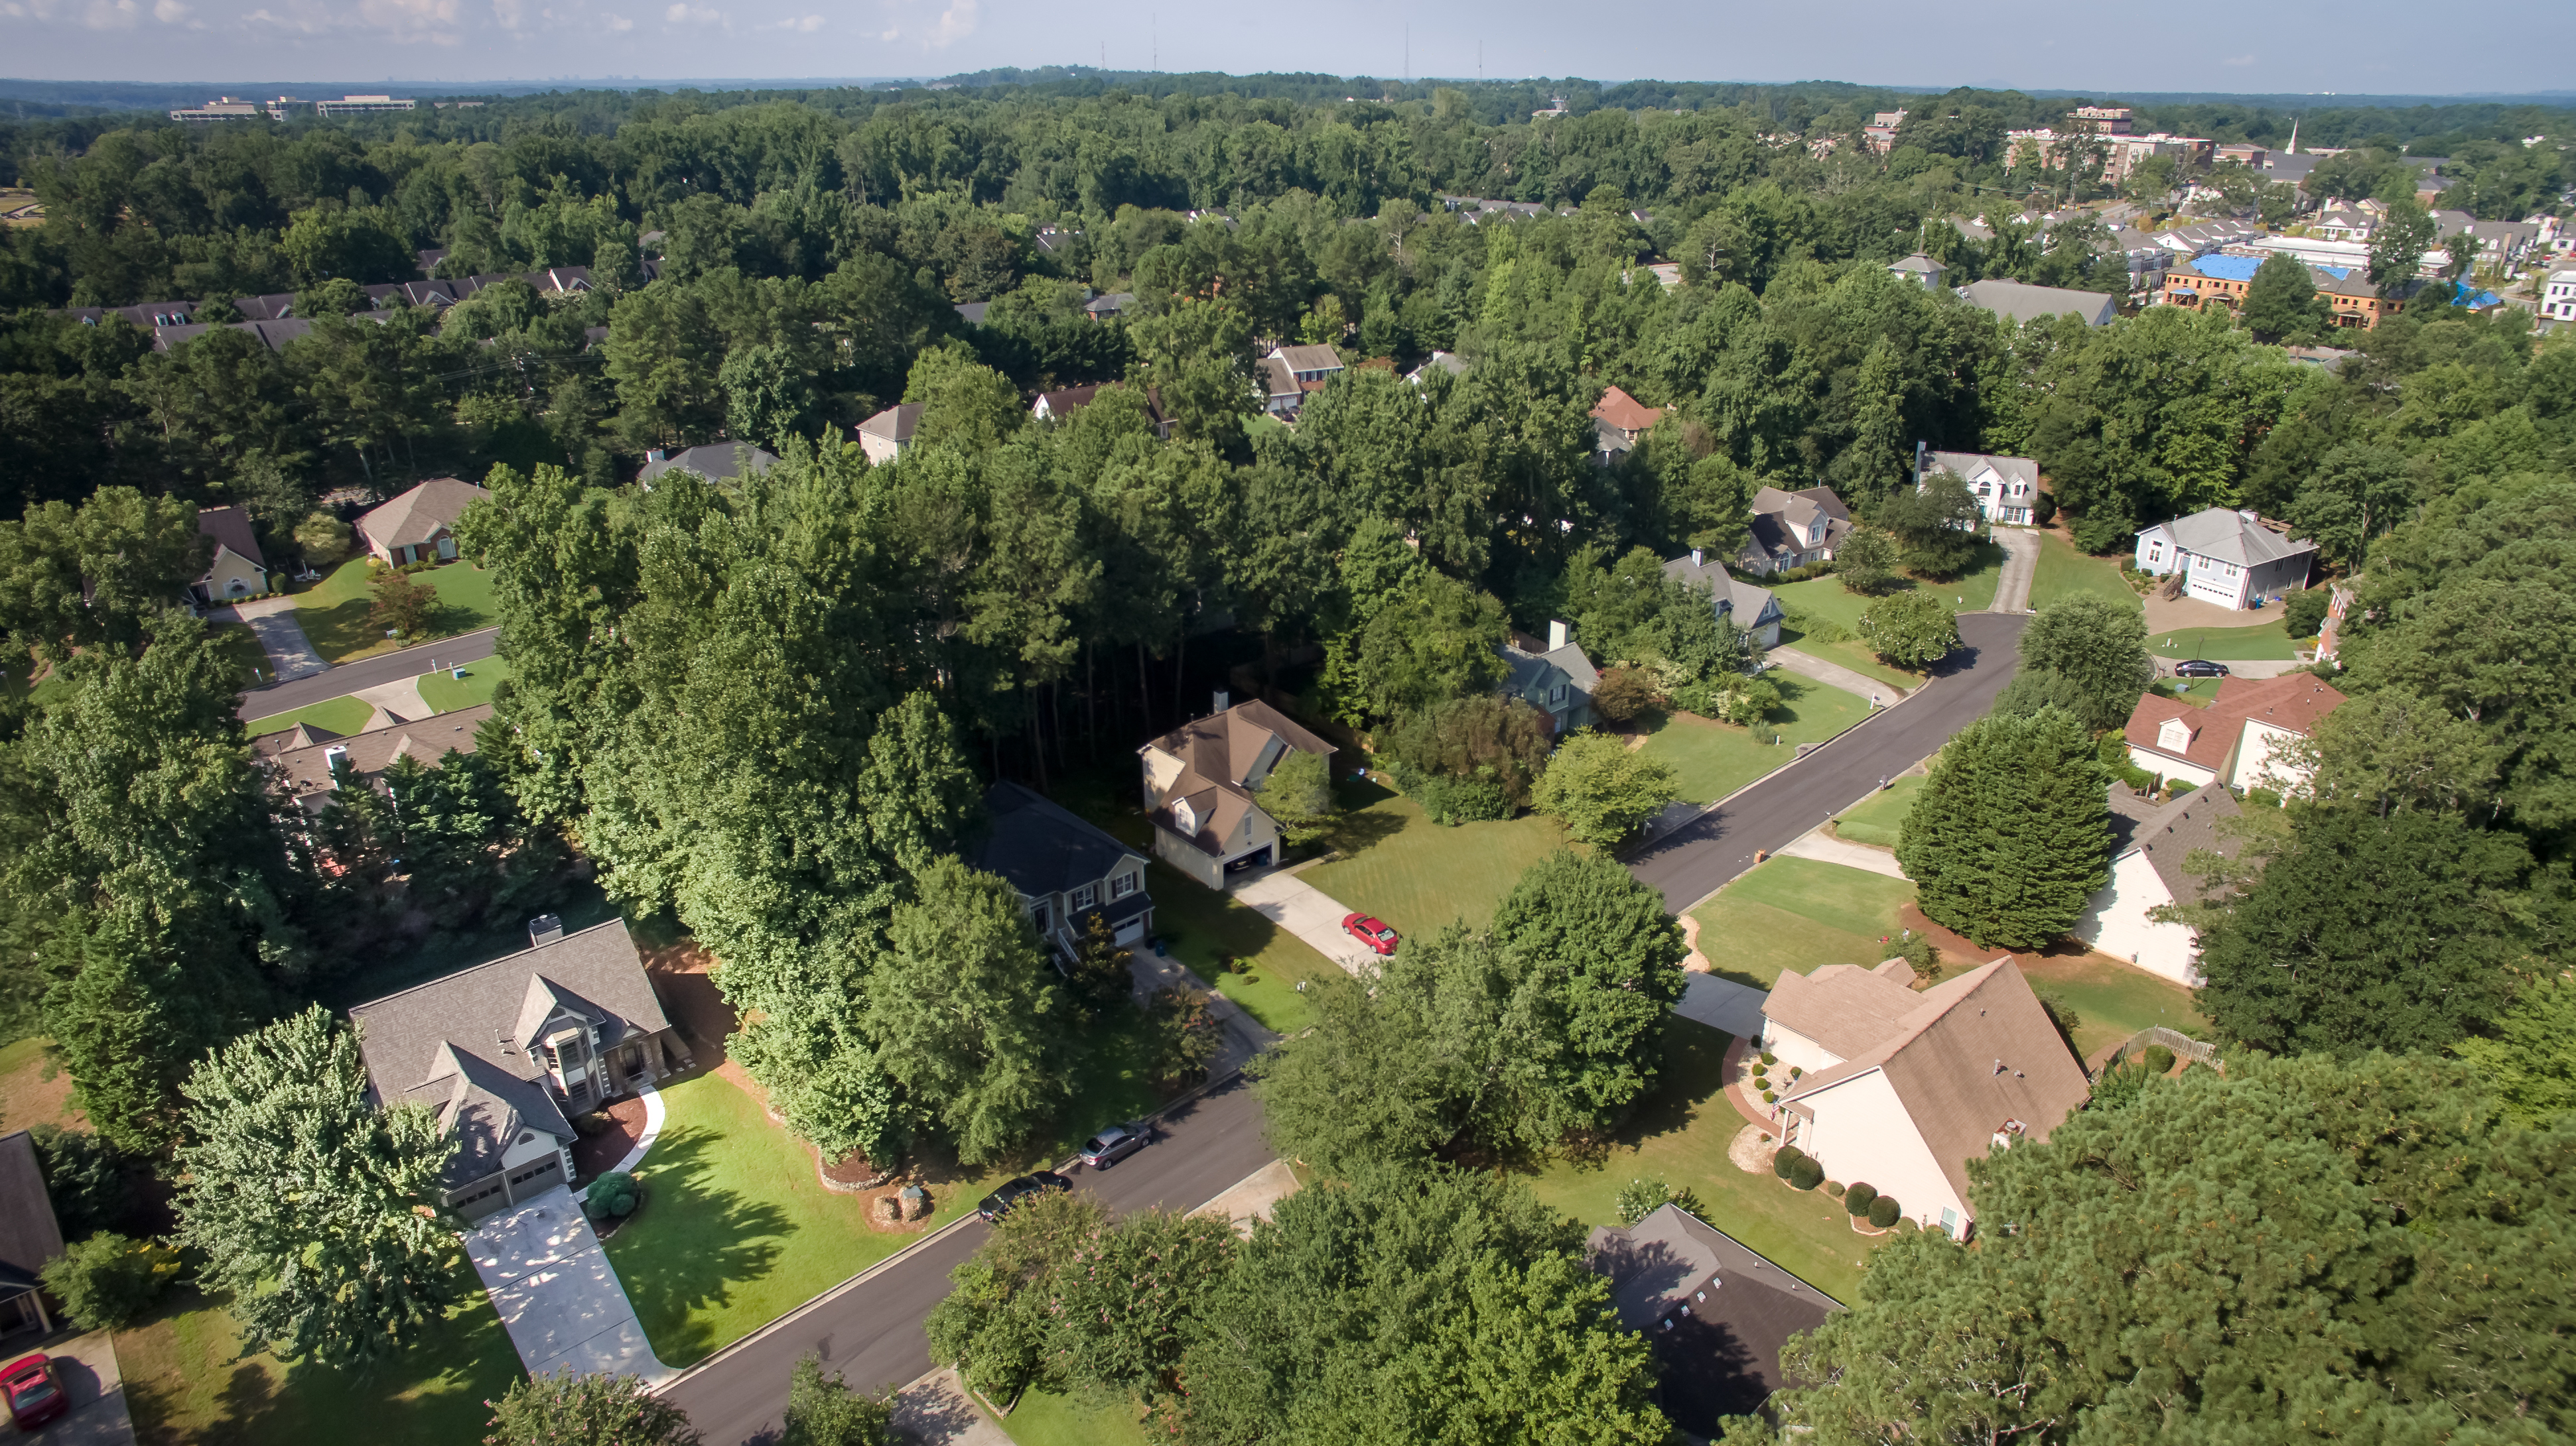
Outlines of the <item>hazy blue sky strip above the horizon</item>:
M 2439 36 L 2398 0 L 2331 10 L 1643 0 L 0 0 L 28 80 L 948 75 L 989 64 L 1860 80 L 2048 90 L 2527 93 L 2576 85 L 2576 5 L 2501 0 Z M 1409 54 L 1406 62 L 1406 36 Z

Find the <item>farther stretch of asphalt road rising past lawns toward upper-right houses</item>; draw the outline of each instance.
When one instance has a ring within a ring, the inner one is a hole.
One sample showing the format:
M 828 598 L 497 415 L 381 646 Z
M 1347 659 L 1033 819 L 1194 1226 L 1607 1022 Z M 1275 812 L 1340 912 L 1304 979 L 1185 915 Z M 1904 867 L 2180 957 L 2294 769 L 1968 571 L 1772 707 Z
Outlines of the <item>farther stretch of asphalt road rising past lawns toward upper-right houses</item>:
M 1754 867 L 1757 849 L 1777 852 L 1984 718 L 2012 682 L 2014 643 L 2027 623 L 2007 612 L 1960 612 L 1963 648 L 1942 659 L 1922 692 L 1752 785 L 1726 808 L 1646 844 L 1628 857 L 1628 872 L 1664 890 L 1664 908 L 1674 913 L 1718 893 Z

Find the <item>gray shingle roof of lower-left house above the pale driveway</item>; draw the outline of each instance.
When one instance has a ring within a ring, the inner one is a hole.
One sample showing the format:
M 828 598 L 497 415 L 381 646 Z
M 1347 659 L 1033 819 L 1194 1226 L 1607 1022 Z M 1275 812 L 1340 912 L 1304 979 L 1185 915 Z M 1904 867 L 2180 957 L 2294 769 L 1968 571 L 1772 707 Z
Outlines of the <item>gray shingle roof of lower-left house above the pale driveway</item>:
M 603 1055 L 670 1029 L 623 919 L 348 1011 L 376 1101 L 425 1104 L 456 1135 L 448 1189 L 489 1176 L 526 1130 L 574 1135 L 531 1052 L 554 1014 L 538 998 L 603 1024 Z

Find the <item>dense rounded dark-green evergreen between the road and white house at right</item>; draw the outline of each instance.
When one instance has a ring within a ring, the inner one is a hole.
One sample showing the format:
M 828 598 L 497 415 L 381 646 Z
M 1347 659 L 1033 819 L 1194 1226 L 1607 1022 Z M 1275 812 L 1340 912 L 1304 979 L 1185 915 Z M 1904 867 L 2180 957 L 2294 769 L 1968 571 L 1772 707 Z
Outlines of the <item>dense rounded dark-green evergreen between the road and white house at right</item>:
M 1896 859 L 1935 924 L 1978 947 L 2038 949 L 2110 883 L 2107 790 L 2074 715 L 1981 718 L 1940 751 Z

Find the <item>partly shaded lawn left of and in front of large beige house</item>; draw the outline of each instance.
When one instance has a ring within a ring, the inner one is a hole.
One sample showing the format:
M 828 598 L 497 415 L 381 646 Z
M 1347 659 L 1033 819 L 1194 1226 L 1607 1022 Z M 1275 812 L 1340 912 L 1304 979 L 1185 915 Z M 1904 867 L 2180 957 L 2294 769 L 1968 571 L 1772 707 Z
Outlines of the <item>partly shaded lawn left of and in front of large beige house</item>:
M 1558 1160 L 1530 1186 L 1584 1225 L 1618 1225 L 1618 1189 L 1638 1176 L 1662 1176 L 1700 1196 L 1703 1220 L 1850 1302 L 1870 1248 L 1893 1235 L 1860 1235 L 1839 1199 L 1821 1189 L 1790 1189 L 1770 1171 L 1749 1176 L 1726 1158 L 1726 1145 L 1747 1124 L 1718 1094 L 1726 1045 L 1723 1032 L 1674 1014 L 1664 1024 L 1662 1081 L 1636 1117 L 1597 1158 Z

